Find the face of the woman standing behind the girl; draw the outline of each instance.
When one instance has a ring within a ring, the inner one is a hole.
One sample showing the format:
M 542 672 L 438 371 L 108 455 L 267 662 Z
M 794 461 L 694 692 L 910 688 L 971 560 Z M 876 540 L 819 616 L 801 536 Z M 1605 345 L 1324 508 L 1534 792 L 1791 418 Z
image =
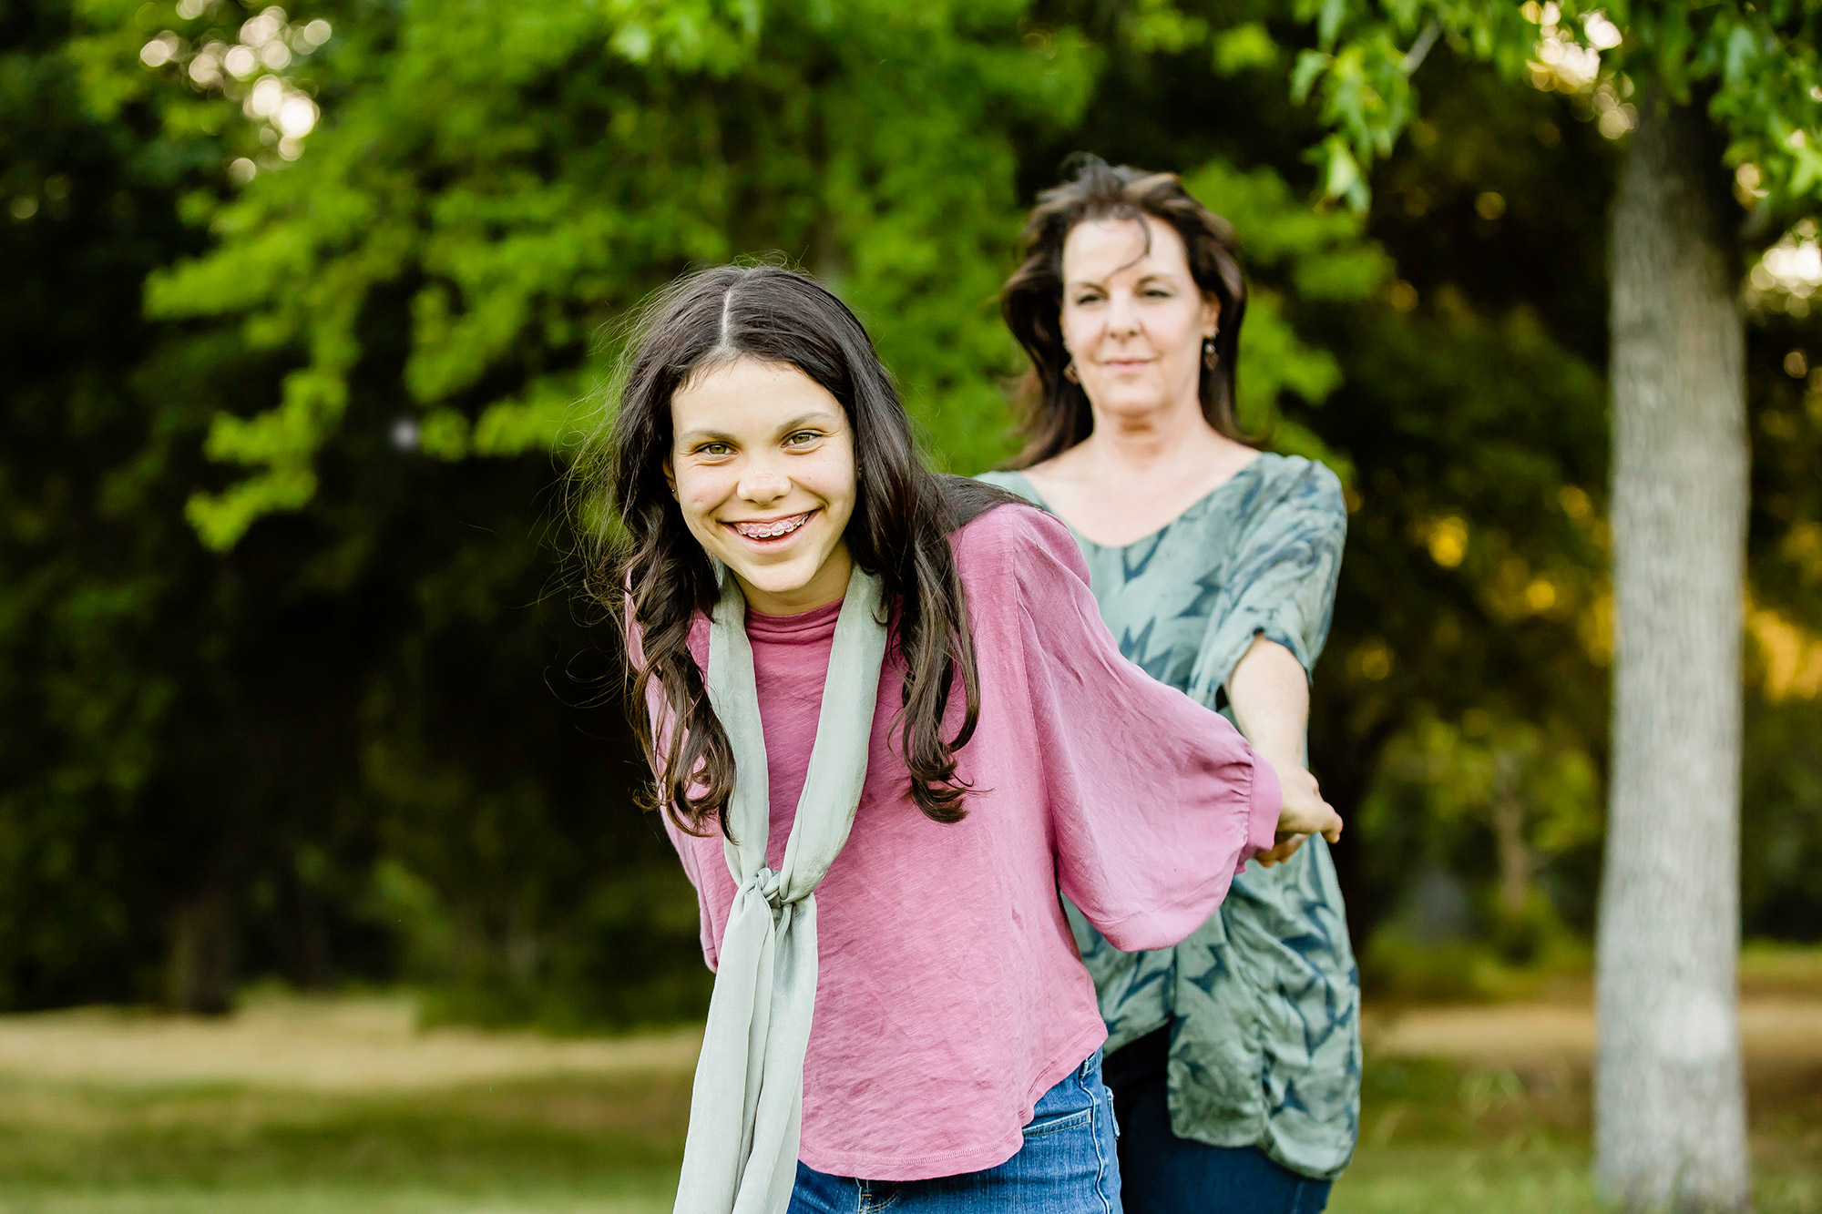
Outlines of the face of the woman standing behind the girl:
M 1097 414 L 1195 403 L 1203 339 L 1219 317 L 1190 277 L 1182 237 L 1159 219 L 1088 221 L 1062 242 L 1062 341 Z

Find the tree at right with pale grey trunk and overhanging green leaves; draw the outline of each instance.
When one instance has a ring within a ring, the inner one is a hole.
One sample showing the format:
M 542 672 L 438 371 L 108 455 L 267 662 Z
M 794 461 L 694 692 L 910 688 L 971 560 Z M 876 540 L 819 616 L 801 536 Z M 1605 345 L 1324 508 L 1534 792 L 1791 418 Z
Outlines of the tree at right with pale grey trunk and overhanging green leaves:
M 1337 129 L 1325 190 L 1408 124 L 1439 35 L 1633 129 L 1611 228 L 1614 767 L 1602 884 L 1596 1159 L 1629 1209 L 1749 1203 L 1735 1023 L 1747 532 L 1738 210 L 1822 193 L 1822 5 L 1297 0 L 1294 93 Z M 1605 55 L 1605 62 L 1603 62 Z M 1636 91 L 1636 104 L 1623 98 Z M 1722 171 L 1727 162 L 1733 180 Z M 1822 277 L 1822 275 L 1818 275 Z

